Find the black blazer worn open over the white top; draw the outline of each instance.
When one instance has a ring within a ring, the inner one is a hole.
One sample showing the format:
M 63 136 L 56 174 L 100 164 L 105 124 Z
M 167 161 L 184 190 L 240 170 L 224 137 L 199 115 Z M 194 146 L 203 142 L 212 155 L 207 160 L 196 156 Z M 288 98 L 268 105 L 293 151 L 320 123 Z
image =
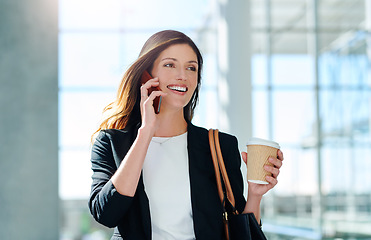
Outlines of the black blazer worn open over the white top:
M 134 197 L 119 194 L 112 175 L 133 144 L 138 127 L 100 131 L 91 154 L 92 187 L 89 208 L 93 217 L 115 227 L 112 239 L 150 240 L 151 217 L 142 176 Z M 222 205 L 218 196 L 208 131 L 188 123 L 188 158 L 194 231 L 197 240 L 223 237 Z M 220 145 L 239 212 L 244 210 L 241 157 L 237 139 L 220 133 Z

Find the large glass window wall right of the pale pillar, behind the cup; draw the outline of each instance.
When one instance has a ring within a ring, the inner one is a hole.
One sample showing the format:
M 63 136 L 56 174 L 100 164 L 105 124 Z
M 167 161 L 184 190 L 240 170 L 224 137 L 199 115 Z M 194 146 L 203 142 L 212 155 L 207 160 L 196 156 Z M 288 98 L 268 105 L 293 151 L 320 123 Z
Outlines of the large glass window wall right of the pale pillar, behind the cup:
M 364 4 L 318 1 L 316 24 L 310 1 L 252 1 L 253 135 L 279 142 L 285 154 L 279 184 L 262 204 L 263 219 L 277 232 L 309 227 L 318 239 L 358 239 L 370 224 L 371 65 L 361 27 Z

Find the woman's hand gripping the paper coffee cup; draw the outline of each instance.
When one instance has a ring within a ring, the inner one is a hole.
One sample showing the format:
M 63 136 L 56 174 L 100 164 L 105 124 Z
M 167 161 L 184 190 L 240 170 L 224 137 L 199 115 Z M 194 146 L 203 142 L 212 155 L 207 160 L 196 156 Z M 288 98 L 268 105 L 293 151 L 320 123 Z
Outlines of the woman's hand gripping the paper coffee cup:
M 242 159 L 247 165 L 247 153 L 242 152 Z M 277 150 L 277 158 L 270 157 L 268 159 L 270 163 L 273 164 L 273 166 L 265 165 L 264 169 L 270 173 L 272 173 L 272 176 L 266 176 L 265 179 L 267 180 L 268 184 L 257 184 L 248 182 L 249 184 L 249 195 L 257 195 L 257 196 L 263 196 L 265 193 L 267 193 L 270 189 L 272 189 L 274 186 L 277 185 L 277 177 L 280 174 L 280 168 L 282 167 L 282 161 L 283 161 L 283 153 L 281 150 Z M 247 166 L 249 167 L 249 166 Z

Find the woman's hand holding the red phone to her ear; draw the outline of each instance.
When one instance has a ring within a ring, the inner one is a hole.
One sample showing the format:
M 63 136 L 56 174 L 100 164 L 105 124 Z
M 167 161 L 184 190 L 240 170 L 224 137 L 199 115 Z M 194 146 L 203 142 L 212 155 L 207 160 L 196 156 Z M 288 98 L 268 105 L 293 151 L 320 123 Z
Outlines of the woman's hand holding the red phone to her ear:
M 159 96 L 165 96 L 166 93 L 162 91 L 152 91 L 148 95 L 151 87 L 158 87 L 160 84 L 158 77 L 148 80 L 140 87 L 140 112 L 142 115 L 142 126 L 141 128 L 148 127 L 155 131 L 159 124 L 157 120 L 157 114 L 153 108 L 153 100 Z M 154 132 L 153 132 L 154 133 Z

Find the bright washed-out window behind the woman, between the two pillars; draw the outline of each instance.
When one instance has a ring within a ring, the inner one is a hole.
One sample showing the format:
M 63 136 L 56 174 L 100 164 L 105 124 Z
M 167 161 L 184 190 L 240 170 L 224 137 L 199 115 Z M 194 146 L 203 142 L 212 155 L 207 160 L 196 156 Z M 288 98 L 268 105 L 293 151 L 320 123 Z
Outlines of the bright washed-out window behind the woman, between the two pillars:
M 64 219 L 61 239 L 79 239 L 83 235 L 95 235 L 96 231 L 111 235 L 110 229 L 97 225 L 86 215 L 92 175 L 90 140 L 99 126 L 102 109 L 115 99 L 123 70 L 138 57 L 143 43 L 159 28 L 182 29 L 200 47 L 203 47 L 203 36 L 214 37 L 214 22 L 204 21 L 216 15 L 214 2 L 58 1 L 58 185 Z M 204 76 L 215 76 L 215 46 L 209 45 L 208 49 L 204 55 L 208 61 Z M 218 101 L 216 78 L 209 79 L 203 84 L 204 100 L 197 108 L 194 122 L 217 126 L 218 105 L 206 108 L 209 101 Z

